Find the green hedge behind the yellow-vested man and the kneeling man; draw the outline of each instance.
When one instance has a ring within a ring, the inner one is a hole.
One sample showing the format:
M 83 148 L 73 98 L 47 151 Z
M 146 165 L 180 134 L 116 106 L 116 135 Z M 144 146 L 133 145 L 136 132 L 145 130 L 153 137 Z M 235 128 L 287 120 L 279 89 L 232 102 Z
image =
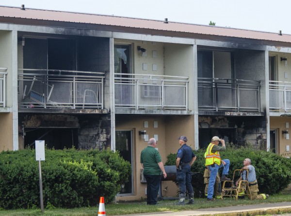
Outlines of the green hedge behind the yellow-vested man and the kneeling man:
M 204 196 L 204 153 L 205 149 L 194 151 L 197 159 L 191 167 L 191 171 L 194 174 L 192 184 L 196 197 Z M 228 173 L 230 179 L 233 178 L 235 169 L 242 168 L 243 160 L 250 158 L 252 165 L 256 169 L 259 193 L 277 194 L 291 183 L 291 159 L 283 158 L 275 153 L 266 152 L 265 150 L 256 150 L 252 146 L 238 149 L 226 147 L 226 151 L 220 152 L 220 155 L 222 159 L 230 160 Z M 176 156 L 176 154 L 168 155 L 165 165 L 175 165 Z M 222 169 L 219 169 L 219 173 L 222 173 Z

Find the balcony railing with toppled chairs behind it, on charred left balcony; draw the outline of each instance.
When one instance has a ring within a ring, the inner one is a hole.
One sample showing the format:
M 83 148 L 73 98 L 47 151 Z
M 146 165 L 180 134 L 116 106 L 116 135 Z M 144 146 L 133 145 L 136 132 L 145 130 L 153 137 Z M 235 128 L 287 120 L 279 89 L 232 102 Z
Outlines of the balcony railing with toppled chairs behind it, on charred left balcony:
M 20 108 L 101 108 L 104 72 L 18 69 Z

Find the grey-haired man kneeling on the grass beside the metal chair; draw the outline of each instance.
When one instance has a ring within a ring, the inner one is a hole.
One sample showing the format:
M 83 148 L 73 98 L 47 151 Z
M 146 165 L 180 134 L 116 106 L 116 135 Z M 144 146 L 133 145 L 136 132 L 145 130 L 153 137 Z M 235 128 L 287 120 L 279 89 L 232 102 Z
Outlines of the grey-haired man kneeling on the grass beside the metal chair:
M 269 195 L 267 195 L 267 194 L 258 194 L 258 192 L 259 192 L 258 181 L 256 178 L 255 167 L 253 165 L 251 165 L 251 159 L 249 159 L 249 158 L 244 159 L 242 169 L 244 171 L 242 171 L 241 177 L 235 182 L 235 185 L 238 186 L 239 182 L 241 180 L 246 180 L 246 170 L 248 170 L 247 181 L 248 181 L 250 191 L 247 191 L 247 194 L 251 195 L 251 196 L 248 196 L 248 198 L 250 198 L 250 199 L 266 199 L 266 198 L 268 198 Z

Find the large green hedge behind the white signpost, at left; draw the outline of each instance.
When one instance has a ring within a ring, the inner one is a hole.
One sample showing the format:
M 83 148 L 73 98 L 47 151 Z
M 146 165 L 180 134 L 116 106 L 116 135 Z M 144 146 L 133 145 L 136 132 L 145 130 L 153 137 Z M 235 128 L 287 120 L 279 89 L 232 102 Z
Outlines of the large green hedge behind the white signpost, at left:
M 45 208 L 112 202 L 128 181 L 131 165 L 110 150 L 49 150 L 41 162 Z M 35 150 L 0 153 L 0 208 L 40 206 L 39 162 Z

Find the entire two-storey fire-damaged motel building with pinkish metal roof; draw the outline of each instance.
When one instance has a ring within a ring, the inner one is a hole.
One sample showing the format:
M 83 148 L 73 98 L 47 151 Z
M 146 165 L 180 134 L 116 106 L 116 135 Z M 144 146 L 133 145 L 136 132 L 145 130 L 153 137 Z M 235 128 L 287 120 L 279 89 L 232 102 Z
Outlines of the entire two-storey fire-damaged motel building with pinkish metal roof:
M 181 135 L 290 157 L 290 59 L 290 35 L 0 6 L 0 150 L 118 150 L 126 200 L 146 197 L 151 137 L 163 162 Z

